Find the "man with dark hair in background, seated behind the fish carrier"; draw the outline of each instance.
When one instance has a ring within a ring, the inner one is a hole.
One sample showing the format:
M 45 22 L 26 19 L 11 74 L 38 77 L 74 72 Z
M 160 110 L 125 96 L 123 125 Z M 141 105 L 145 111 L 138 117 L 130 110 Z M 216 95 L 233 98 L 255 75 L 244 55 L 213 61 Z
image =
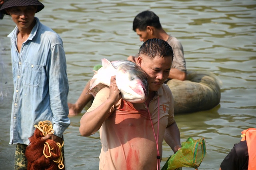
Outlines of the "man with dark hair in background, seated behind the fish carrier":
M 168 35 L 162 28 L 159 17 L 152 11 L 140 12 L 133 20 L 132 29 L 140 37 L 140 41 L 145 42 L 148 39 L 158 38 L 163 39 L 173 48 L 174 59 L 172 69 L 168 79 L 178 79 L 184 81 L 186 79 L 186 61 L 184 58 L 183 47 L 180 41 L 171 35 Z M 137 62 L 138 54 L 129 56 L 128 61 Z M 93 100 L 93 96 L 86 93 L 89 89 L 89 83 L 86 84 L 84 90 L 74 104 L 68 103 L 69 116 L 78 115 L 84 107 Z

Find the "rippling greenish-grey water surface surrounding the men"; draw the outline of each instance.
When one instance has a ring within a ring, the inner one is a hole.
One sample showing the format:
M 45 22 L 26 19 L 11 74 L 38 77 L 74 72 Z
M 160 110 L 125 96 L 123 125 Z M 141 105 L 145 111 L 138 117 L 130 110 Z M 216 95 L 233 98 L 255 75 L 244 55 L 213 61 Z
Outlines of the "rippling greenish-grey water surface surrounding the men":
M 64 42 L 69 102 L 76 101 L 93 75 L 91 69 L 102 58 L 113 61 L 137 53 L 142 43 L 132 31 L 132 21 L 139 12 L 152 10 L 160 17 L 162 27 L 180 39 L 188 70 L 208 70 L 223 82 L 218 106 L 175 117 L 182 141 L 188 137 L 206 140 L 207 155 L 200 169 L 218 169 L 234 143 L 240 141 L 240 132 L 256 127 L 255 0 L 42 0 L 42 3 L 45 8 L 36 16 Z M 9 16 L 0 20 L 0 92 L 6 94 L 0 96 L 0 162 L 3 162 L 0 169 L 12 169 L 14 163 L 14 146 L 8 145 L 13 87 L 10 40 L 6 37 L 13 28 Z M 66 167 L 95 170 L 101 148 L 99 134 L 81 137 L 78 130 L 81 116 L 71 117 L 71 125 L 65 132 Z M 173 153 L 166 143 L 163 150 L 162 166 Z

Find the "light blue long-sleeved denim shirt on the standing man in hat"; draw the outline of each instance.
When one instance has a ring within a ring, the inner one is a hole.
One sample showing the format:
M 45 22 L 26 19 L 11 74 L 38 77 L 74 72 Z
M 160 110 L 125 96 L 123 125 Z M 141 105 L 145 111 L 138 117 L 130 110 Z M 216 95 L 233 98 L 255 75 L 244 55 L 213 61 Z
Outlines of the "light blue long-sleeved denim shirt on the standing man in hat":
M 26 144 L 39 121 L 49 120 L 54 134 L 62 137 L 68 118 L 68 77 L 62 39 L 38 18 L 28 39 L 17 49 L 18 28 L 11 39 L 14 95 L 10 144 Z

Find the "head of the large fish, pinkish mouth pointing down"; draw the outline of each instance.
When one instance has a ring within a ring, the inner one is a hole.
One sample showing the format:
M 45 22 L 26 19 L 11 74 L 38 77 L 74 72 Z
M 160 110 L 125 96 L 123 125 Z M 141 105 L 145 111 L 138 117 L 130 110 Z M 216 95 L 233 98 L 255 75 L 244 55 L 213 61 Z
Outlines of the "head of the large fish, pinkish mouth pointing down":
M 116 85 L 122 98 L 132 103 L 145 102 L 148 98 L 148 78 L 144 70 L 130 63 L 120 64 L 116 70 Z

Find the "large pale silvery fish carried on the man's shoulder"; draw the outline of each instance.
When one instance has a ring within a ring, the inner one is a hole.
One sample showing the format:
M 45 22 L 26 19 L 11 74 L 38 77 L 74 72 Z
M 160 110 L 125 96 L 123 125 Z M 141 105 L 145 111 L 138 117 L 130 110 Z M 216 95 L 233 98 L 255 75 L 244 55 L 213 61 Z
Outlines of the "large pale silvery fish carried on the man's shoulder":
M 95 71 L 90 81 L 89 93 L 96 96 L 104 86 L 110 86 L 111 76 L 116 75 L 116 85 L 122 99 L 132 103 L 143 103 L 148 98 L 148 78 L 142 68 L 127 60 L 108 61 L 102 59 L 102 67 Z

